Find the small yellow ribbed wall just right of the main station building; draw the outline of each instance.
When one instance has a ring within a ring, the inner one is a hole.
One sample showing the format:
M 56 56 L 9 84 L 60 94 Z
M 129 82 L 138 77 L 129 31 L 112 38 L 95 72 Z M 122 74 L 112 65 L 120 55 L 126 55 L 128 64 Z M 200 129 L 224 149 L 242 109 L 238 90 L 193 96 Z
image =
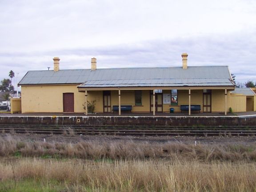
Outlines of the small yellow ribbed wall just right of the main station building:
M 246 96 L 231 95 L 229 107 L 233 109 L 233 112 L 246 112 Z

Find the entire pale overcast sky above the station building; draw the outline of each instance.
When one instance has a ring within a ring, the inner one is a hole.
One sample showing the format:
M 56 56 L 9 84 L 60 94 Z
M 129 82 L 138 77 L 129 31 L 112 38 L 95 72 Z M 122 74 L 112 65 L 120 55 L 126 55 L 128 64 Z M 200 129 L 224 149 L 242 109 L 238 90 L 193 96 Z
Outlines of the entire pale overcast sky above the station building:
M 172 67 L 182 52 L 256 81 L 256 0 L 0 0 L 0 80 L 55 56 L 60 69 Z

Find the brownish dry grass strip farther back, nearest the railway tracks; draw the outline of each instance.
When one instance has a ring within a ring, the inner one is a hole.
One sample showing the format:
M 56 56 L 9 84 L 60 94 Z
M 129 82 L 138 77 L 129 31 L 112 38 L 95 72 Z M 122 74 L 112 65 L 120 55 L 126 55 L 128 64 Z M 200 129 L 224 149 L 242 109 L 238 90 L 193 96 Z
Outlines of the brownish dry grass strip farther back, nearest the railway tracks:
M 0 136 L 0 156 L 76 157 L 85 159 L 172 159 L 211 161 L 255 161 L 256 145 L 207 145 L 164 143 L 48 143 L 24 142 L 12 136 Z

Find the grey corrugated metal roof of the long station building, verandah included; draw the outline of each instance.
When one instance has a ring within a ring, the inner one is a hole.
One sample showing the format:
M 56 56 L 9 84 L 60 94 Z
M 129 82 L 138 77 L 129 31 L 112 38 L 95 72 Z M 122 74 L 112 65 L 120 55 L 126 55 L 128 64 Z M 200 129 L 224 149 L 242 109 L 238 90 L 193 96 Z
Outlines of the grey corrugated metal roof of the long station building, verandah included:
M 108 68 L 29 71 L 19 85 L 82 84 L 80 87 L 233 86 L 227 66 Z

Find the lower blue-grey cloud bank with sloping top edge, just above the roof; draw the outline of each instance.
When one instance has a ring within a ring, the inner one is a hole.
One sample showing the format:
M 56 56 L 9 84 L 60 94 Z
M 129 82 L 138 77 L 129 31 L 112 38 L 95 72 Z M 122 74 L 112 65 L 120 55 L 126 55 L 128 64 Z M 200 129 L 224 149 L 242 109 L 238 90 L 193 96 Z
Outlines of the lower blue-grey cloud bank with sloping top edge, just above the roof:
M 94 48 L 71 48 L 44 52 L 0 53 L 2 71 L 20 72 L 53 68 L 52 58 L 60 57 L 60 68 L 90 68 L 90 59 L 97 58 L 98 68 L 175 67 L 181 66 L 181 53 L 188 52 L 188 66 L 228 65 L 236 80 L 256 81 L 254 76 L 256 38 L 253 34 L 201 36 L 172 40 L 151 40 L 137 44 L 119 44 Z M 21 77 L 20 76 L 20 77 Z M 2 75 L 1 78 L 4 78 Z

